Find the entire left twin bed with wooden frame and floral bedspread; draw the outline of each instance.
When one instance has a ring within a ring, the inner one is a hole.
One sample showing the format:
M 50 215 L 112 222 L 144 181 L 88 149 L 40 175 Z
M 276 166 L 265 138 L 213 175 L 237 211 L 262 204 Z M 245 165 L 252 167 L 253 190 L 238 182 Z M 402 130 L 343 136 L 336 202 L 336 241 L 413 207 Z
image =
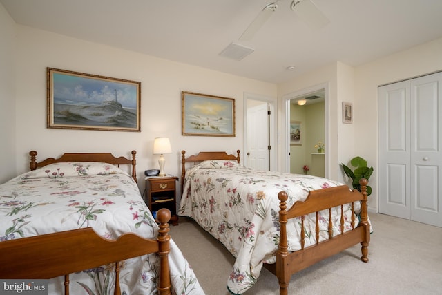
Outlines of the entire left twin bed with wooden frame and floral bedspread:
M 49 294 L 202 292 L 168 234 L 170 211 L 157 225 L 144 204 L 131 154 L 37 162 L 31 151 L 31 171 L 0 185 L 0 278 L 52 278 Z

